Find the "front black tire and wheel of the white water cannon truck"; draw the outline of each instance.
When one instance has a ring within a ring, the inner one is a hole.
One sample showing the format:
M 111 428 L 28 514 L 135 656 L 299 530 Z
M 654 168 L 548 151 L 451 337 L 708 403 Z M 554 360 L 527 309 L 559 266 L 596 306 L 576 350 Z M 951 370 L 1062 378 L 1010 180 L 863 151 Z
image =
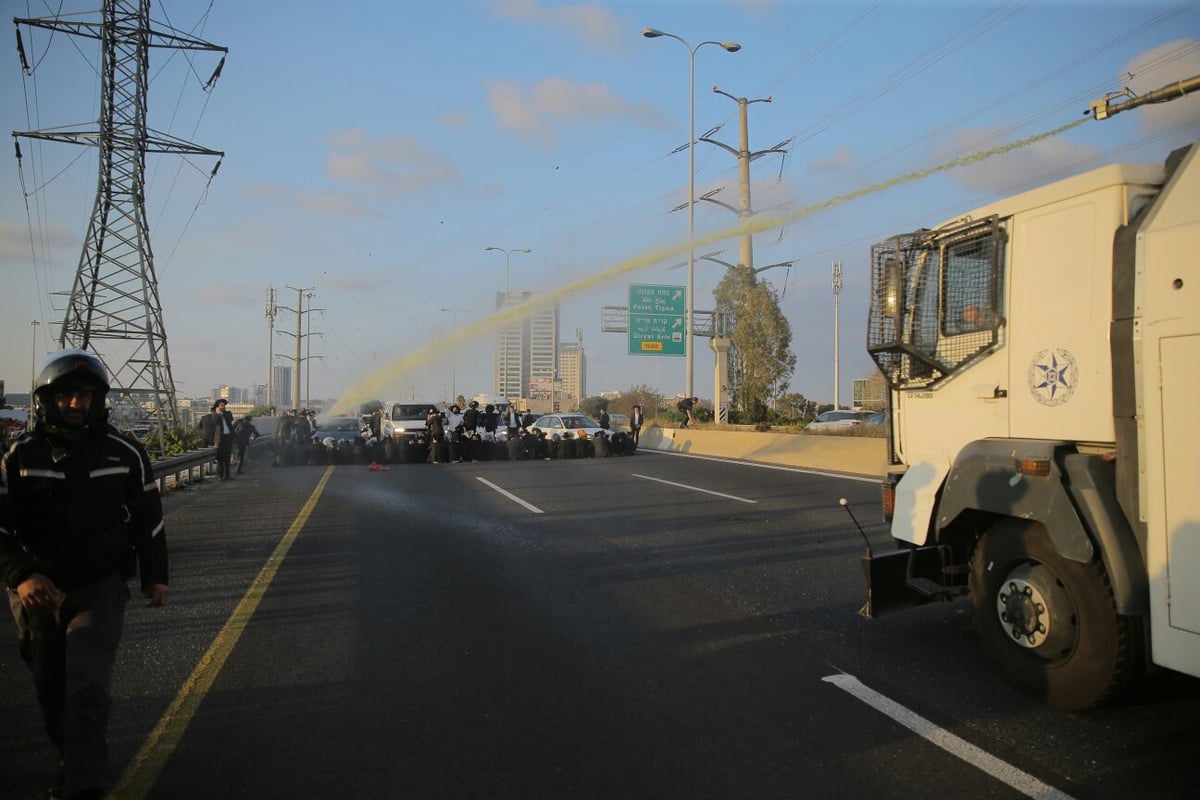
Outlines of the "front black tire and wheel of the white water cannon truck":
M 1117 613 L 1103 565 L 1061 558 L 1040 523 L 989 528 L 970 590 L 984 649 L 1009 684 L 1049 705 L 1102 705 L 1142 667 L 1140 619 Z

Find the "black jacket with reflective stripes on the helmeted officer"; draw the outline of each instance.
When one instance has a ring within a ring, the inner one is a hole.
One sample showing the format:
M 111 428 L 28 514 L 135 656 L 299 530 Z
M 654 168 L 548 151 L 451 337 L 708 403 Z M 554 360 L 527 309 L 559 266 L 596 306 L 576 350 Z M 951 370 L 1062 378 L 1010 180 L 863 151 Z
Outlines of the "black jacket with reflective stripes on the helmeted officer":
M 72 589 L 113 572 L 167 583 L 162 499 L 145 449 L 104 426 L 68 440 L 38 425 L 5 455 L 0 582 Z

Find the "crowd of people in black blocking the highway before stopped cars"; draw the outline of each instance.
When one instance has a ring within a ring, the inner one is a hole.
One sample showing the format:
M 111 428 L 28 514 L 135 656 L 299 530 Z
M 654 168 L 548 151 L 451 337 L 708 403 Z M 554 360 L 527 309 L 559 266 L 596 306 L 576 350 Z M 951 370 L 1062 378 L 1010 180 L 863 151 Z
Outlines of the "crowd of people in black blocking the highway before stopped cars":
M 515 405 L 503 411 L 494 405 L 470 402 L 446 411 L 430 407 L 425 429 L 418 435 L 380 435 L 379 414 L 362 417 L 361 434 L 353 438 L 322 437 L 314 415 L 290 409 L 278 419 L 271 435 L 274 465 L 314 464 L 431 464 L 482 461 L 548 461 L 558 458 L 605 458 L 631 455 L 637 450 L 642 427 L 641 408 L 635 407 L 630 431 L 608 431 L 607 411 L 601 414 L 601 431 L 546 435 L 535 429 L 536 417 Z M 240 470 L 239 470 L 240 471 Z

